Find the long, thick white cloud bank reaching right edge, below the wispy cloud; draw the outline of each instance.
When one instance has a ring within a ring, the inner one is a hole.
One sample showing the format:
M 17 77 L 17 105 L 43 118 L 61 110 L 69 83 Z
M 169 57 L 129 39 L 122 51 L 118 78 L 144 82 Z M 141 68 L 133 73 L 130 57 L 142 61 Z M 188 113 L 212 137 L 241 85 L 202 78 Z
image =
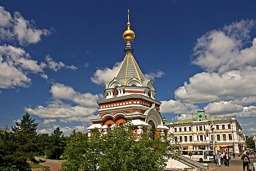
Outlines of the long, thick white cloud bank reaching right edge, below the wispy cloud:
M 175 90 L 175 98 L 189 103 L 234 100 L 256 95 L 256 67 L 217 73 L 197 73 Z

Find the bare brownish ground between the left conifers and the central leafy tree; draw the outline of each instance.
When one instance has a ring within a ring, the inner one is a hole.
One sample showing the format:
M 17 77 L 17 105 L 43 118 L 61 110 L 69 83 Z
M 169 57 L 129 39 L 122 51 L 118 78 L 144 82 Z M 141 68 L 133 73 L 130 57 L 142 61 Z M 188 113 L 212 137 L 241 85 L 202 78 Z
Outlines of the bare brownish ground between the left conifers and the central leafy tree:
M 44 160 L 44 158 L 38 158 L 36 157 L 37 160 L 41 159 Z M 46 159 L 44 163 L 41 163 L 40 165 L 43 166 L 49 166 L 51 171 L 59 171 L 61 170 L 61 164 L 63 163 L 63 160 L 51 160 L 51 159 Z M 42 168 L 34 168 L 32 171 L 42 171 Z

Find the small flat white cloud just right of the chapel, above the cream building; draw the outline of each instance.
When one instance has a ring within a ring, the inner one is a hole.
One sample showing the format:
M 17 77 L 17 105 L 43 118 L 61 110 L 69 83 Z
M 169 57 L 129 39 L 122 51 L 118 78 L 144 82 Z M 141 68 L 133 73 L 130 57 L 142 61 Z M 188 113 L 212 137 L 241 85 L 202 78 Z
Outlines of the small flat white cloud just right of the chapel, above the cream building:
M 197 108 L 193 104 L 186 104 L 179 100 L 169 100 L 161 101 L 162 105 L 160 106 L 161 113 L 174 113 L 174 114 L 183 114 L 188 113 L 191 109 Z

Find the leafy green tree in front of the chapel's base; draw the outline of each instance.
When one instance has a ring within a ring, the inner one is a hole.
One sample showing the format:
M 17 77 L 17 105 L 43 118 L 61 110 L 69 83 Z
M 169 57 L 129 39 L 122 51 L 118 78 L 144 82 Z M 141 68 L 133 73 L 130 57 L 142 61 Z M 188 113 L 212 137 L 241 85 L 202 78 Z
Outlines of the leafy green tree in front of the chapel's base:
M 155 135 L 150 130 L 138 138 L 134 126 L 122 124 L 102 135 L 98 130 L 78 132 L 69 138 L 62 170 L 164 170 L 166 161 L 178 158 L 172 153 L 179 148 L 173 136 Z

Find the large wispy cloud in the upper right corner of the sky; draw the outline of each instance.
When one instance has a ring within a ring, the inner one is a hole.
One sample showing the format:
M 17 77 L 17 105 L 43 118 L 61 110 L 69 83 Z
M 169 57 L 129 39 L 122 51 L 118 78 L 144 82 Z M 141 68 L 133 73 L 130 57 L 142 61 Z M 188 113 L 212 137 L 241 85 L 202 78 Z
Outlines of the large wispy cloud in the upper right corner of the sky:
M 197 39 L 193 64 L 207 72 L 227 72 L 256 64 L 256 39 L 250 44 L 249 32 L 255 22 L 241 20 L 223 29 L 213 30 Z M 244 45 L 250 44 L 249 47 Z

